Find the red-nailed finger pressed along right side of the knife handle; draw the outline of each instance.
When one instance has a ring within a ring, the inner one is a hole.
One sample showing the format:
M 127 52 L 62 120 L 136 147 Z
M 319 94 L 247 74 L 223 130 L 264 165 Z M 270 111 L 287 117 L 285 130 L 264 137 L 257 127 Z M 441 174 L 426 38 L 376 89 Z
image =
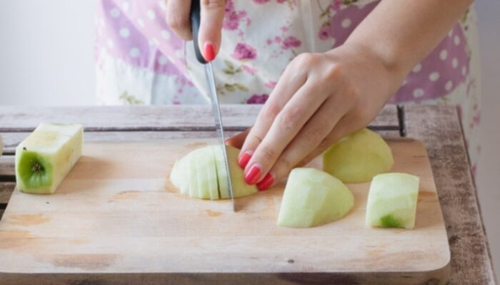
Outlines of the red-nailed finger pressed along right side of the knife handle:
M 219 52 L 225 11 L 226 1 L 224 0 L 201 0 L 198 43 L 203 47 L 203 56 L 206 61 L 213 61 Z

